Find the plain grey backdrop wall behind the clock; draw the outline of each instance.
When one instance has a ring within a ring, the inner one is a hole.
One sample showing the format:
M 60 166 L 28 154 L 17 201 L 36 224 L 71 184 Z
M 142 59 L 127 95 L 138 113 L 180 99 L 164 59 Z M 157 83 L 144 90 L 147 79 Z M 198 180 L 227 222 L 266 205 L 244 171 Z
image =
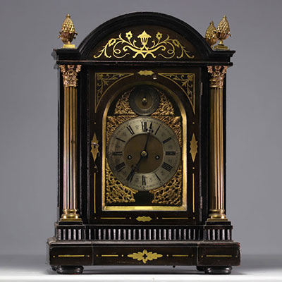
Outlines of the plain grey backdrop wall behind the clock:
M 57 75 L 66 13 L 75 45 L 106 20 L 158 11 L 202 35 L 228 16 L 227 215 L 243 254 L 281 254 L 282 1 L 0 1 L 0 255 L 44 254 L 56 220 Z

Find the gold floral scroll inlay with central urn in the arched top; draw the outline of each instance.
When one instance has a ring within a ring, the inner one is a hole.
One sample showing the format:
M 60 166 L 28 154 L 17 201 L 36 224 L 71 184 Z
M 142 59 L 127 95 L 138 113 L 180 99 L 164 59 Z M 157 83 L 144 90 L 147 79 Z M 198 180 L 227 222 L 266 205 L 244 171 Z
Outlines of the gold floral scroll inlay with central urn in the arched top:
M 104 56 L 104 58 L 114 56 L 116 59 L 122 59 L 125 56 L 131 56 L 135 59 L 140 55 L 143 59 L 147 56 L 152 56 L 154 59 L 157 56 L 164 59 L 194 58 L 194 55 L 190 55 L 190 51 L 186 50 L 186 47 L 178 39 L 171 39 L 169 35 L 162 39 L 163 34 L 161 32 L 157 32 L 154 39 L 149 39 L 152 36 L 148 35 L 145 30 L 137 36 L 133 35 L 133 32 L 129 30 L 125 33 L 125 37 L 126 39 L 120 33 L 118 37 L 109 39 L 106 45 L 93 57 L 97 59 L 101 56 Z

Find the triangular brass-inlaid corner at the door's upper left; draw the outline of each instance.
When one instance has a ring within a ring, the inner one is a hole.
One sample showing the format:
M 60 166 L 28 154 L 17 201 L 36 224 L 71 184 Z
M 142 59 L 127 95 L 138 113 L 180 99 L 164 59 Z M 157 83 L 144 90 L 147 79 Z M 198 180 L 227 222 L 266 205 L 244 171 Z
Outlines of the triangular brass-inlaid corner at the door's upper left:
M 134 73 L 95 73 L 95 111 L 97 111 L 97 106 L 104 93 L 115 85 L 116 82 L 131 75 L 134 75 Z

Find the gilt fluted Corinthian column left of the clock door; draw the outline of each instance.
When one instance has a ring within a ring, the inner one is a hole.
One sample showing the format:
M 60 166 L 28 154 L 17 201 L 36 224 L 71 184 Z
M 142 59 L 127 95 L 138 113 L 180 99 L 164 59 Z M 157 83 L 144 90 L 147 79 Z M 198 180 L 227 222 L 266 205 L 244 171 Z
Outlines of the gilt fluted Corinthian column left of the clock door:
M 81 221 L 77 209 L 78 90 L 81 65 L 60 66 L 63 75 L 63 214 L 61 221 Z

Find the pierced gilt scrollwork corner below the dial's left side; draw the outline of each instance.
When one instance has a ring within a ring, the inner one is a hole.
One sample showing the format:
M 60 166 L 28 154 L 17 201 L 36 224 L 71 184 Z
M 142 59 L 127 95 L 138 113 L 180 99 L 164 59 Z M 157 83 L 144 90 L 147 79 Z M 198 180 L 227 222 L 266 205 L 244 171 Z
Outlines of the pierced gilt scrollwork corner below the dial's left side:
M 117 180 L 114 173 L 111 172 L 108 161 L 106 161 L 106 203 L 135 202 L 134 195 L 137 192 L 137 190 L 129 188 Z

